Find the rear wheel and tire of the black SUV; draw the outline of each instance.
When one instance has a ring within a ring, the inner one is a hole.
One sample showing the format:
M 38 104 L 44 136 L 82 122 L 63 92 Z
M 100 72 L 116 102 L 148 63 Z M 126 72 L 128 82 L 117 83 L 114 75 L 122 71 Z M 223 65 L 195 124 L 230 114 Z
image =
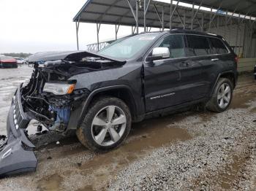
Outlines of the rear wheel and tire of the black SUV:
M 224 112 L 230 106 L 232 98 L 232 82 L 230 79 L 220 78 L 211 99 L 206 104 L 206 108 L 212 112 Z

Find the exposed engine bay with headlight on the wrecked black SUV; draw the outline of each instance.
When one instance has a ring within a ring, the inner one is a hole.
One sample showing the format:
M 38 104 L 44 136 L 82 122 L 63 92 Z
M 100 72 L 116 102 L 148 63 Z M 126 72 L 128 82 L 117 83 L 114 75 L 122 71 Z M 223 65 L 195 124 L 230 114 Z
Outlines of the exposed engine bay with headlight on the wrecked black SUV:
M 79 56 L 78 56 L 79 55 Z M 81 56 L 82 55 L 82 56 Z M 24 112 L 48 130 L 67 130 L 70 113 L 85 101 L 89 90 L 75 89 L 76 74 L 120 66 L 116 61 L 77 53 L 56 61 L 37 61 L 26 86 L 21 88 Z M 59 89 L 58 89 L 59 88 Z

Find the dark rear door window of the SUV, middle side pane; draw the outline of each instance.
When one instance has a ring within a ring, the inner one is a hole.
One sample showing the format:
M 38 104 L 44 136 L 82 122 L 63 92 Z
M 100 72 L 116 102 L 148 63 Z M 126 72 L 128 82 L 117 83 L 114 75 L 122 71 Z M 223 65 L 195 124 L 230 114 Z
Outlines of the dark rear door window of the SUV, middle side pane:
M 211 54 L 208 39 L 205 36 L 187 35 L 189 56 Z

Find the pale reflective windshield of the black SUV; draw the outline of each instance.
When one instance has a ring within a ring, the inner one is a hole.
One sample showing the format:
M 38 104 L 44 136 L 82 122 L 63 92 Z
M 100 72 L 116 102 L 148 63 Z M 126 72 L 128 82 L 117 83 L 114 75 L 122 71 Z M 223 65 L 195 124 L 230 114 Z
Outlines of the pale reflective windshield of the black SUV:
M 153 42 L 157 36 L 158 34 L 139 34 L 119 39 L 98 53 L 113 58 L 132 58 L 136 53 Z

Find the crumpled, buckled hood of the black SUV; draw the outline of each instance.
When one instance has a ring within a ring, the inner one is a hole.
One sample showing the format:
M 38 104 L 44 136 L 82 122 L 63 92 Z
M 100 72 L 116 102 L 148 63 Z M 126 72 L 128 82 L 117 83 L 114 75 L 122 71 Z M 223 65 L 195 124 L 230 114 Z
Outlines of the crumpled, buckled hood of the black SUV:
M 107 56 L 102 56 L 97 53 L 87 52 L 87 51 L 55 51 L 55 52 L 38 52 L 34 55 L 29 56 L 29 62 L 41 62 L 41 61 L 80 61 L 82 58 L 94 57 L 103 58 L 110 61 L 116 61 L 123 63 L 124 61 L 118 60 L 116 58 L 109 58 Z

